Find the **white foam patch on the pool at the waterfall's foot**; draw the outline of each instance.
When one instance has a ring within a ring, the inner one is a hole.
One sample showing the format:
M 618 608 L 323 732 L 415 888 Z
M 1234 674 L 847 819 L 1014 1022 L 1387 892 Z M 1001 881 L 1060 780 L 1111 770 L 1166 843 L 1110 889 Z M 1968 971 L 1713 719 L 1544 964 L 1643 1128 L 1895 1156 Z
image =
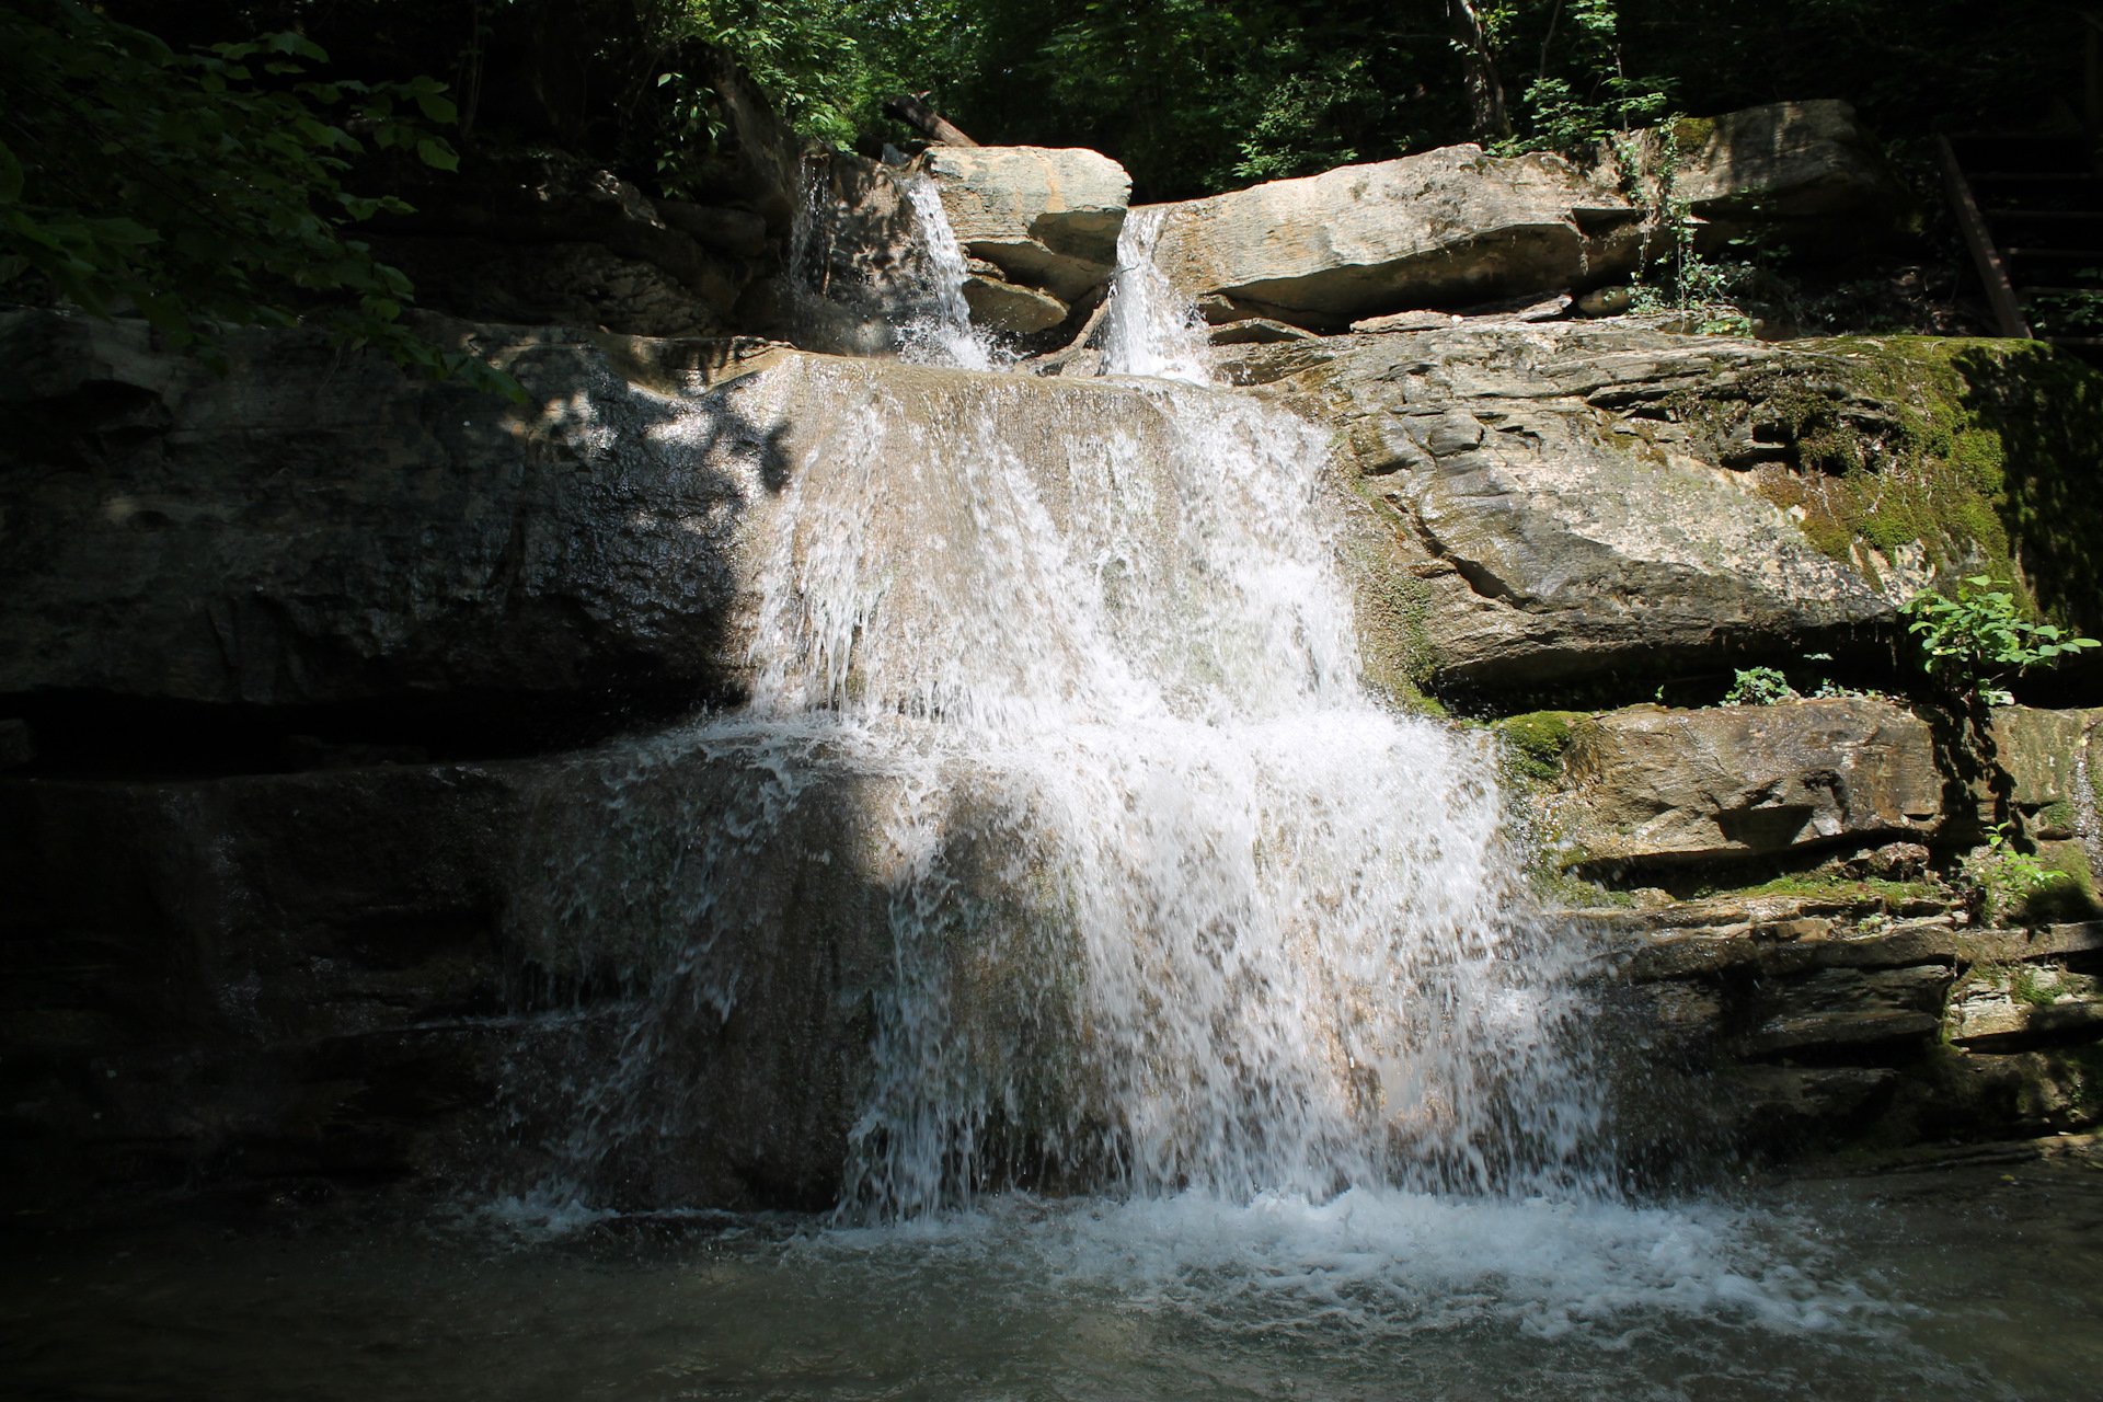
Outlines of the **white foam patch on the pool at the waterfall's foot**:
M 1609 1349 L 1689 1322 L 1880 1335 L 1907 1314 L 1849 1280 L 1788 1215 L 1384 1188 L 1327 1202 L 1009 1198 L 808 1236 L 789 1259 L 1012 1276 L 1207 1331 L 1361 1347 L 1478 1326 Z

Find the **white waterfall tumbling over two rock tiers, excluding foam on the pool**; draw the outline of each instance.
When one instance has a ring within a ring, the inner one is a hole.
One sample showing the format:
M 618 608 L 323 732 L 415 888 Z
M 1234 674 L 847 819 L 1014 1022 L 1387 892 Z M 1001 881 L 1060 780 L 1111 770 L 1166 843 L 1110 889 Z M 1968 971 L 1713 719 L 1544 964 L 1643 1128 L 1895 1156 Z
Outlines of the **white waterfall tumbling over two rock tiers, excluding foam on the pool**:
M 1192 370 L 1146 269 L 1117 364 Z M 719 393 L 795 429 L 751 702 L 627 752 L 519 895 L 637 990 L 583 1192 L 787 1133 L 698 1110 L 692 1049 L 772 996 L 753 950 L 869 944 L 852 1213 L 1602 1183 L 1579 954 L 1529 914 L 1491 742 L 1369 696 L 1314 427 L 1161 376 L 805 357 Z

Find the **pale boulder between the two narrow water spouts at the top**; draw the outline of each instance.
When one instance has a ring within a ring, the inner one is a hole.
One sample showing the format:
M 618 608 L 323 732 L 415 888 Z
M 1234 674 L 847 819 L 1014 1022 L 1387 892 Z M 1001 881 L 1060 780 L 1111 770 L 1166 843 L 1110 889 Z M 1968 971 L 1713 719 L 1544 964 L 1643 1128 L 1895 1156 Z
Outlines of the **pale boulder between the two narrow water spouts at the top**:
M 1108 156 L 1045 147 L 934 145 L 921 168 L 957 242 L 1009 282 L 1075 303 L 1108 282 L 1131 177 Z

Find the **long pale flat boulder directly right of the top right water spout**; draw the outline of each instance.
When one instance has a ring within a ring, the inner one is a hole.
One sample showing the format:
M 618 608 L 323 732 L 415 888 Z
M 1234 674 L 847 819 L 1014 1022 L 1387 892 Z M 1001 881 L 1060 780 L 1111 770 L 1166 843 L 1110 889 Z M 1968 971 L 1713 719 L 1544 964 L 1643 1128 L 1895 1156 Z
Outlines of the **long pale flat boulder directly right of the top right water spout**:
M 1634 219 L 1556 156 L 1459 145 L 1173 204 L 1155 256 L 1211 322 L 1342 330 L 1598 280 L 1628 263 Z

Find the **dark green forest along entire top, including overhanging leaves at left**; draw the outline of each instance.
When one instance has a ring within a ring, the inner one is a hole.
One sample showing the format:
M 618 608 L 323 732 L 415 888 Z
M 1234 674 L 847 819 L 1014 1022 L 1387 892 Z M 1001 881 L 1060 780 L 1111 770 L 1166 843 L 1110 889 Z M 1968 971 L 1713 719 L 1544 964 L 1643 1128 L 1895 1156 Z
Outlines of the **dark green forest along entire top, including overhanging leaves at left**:
M 0 296 L 206 355 L 221 326 L 309 322 L 484 374 L 412 334 L 358 227 L 406 212 L 406 168 L 486 151 L 692 198 L 721 55 L 805 137 L 904 145 L 883 103 L 913 92 L 986 143 L 1104 151 L 1150 202 L 1800 97 L 1901 147 L 2038 128 L 2082 101 L 2074 36 L 2050 0 L 15 0 Z

